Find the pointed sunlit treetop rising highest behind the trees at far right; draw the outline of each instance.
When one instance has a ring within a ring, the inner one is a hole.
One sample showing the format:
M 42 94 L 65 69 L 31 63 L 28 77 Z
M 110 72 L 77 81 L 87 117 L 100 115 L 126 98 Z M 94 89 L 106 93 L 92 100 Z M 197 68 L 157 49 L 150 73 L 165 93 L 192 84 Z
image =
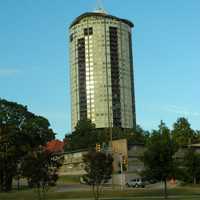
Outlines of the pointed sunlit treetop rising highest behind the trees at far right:
M 179 146 L 188 145 L 197 141 L 194 130 L 184 117 L 178 118 L 173 124 L 172 136 Z

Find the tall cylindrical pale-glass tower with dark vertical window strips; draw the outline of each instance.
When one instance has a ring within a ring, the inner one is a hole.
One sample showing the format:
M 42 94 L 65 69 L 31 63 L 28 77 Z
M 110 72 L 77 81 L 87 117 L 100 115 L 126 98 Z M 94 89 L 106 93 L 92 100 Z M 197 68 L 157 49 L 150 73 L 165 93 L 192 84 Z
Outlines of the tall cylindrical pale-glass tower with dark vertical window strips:
M 70 25 L 71 119 L 97 128 L 135 128 L 133 23 L 89 12 Z

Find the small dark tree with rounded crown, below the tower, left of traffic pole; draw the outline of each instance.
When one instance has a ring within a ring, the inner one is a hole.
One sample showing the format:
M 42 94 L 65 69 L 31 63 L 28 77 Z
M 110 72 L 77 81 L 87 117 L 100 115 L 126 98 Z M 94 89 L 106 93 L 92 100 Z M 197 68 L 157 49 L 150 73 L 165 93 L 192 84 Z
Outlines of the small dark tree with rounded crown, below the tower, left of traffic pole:
M 110 154 L 90 152 L 83 158 L 86 175 L 84 181 L 92 186 L 94 199 L 98 200 L 101 189 L 112 175 L 113 158 Z

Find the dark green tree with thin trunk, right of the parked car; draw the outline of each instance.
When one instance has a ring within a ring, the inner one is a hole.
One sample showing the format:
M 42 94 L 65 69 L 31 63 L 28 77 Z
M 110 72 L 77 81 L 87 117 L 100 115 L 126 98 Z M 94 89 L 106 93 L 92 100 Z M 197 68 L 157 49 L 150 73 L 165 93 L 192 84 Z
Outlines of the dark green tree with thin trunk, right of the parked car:
M 170 130 L 161 122 L 159 130 L 151 134 L 147 150 L 144 152 L 143 175 L 147 179 L 164 182 L 164 196 L 167 198 L 167 180 L 175 177 L 177 165 L 174 154 L 177 145 L 171 139 Z

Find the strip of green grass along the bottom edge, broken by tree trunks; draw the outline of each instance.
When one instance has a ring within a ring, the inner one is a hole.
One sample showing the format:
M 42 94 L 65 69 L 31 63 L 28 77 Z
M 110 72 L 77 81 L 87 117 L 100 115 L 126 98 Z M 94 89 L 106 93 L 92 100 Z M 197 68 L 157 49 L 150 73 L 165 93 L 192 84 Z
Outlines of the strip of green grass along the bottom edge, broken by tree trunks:
M 101 196 L 103 200 L 148 200 L 163 199 L 163 191 L 160 189 L 133 189 L 125 191 L 104 191 Z M 13 191 L 10 193 L 0 193 L 0 200 L 36 200 L 37 193 L 35 190 Z M 55 192 L 54 188 L 47 193 L 47 200 L 70 200 L 70 199 L 92 199 L 90 191 L 73 191 L 73 192 Z M 200 188 L 198 187 L 180 187 L 169 190 L 170 200 L 193 200 L 200 199 Z

